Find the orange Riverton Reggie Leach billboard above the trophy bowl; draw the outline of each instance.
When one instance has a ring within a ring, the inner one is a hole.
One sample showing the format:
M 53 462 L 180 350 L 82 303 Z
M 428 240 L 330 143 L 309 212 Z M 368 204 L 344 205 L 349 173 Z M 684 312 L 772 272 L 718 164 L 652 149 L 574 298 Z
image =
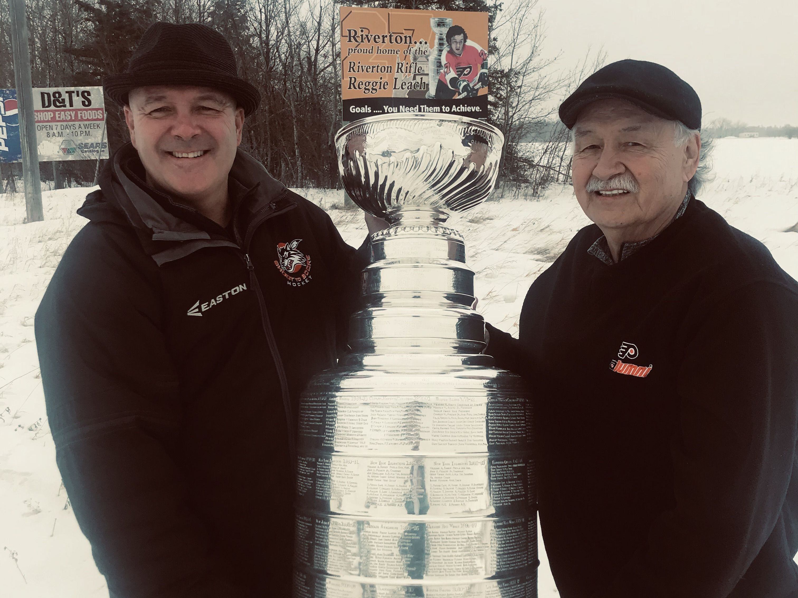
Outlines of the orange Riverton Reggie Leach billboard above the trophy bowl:
M 488 117 L 488 13 L 341 7 L 343 120 Z

